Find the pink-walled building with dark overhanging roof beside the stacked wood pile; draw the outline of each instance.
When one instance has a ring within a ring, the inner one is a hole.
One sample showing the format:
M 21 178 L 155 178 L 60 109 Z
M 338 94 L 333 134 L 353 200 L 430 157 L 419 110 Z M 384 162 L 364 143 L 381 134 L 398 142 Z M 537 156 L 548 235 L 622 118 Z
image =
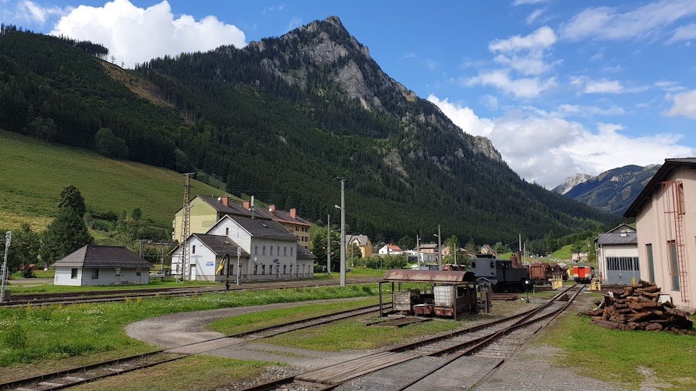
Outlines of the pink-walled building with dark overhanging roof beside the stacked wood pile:
M 665 163 L 633 201 L 643 280 L 655 282 L 672 303 L 696 308 L 696 158 Z

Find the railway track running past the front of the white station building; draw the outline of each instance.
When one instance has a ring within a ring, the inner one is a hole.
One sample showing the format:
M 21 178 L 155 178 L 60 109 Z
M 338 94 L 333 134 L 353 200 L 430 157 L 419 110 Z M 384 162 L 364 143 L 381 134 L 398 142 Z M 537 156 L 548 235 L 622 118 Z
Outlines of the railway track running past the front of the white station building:
M 377 282 L 380 277 L 351 278 L 349 285 L 367 284 Z M 283 282 L 247 282 L 243 285 L 230 286 L 230 292 L 257 291 L 264 289 L 292 289 L 301 287 L 326 287 L 338 285 L 337 280 L 292 280 Z M 21 307 L 24 305 L 42 306 L 52 304 L 80 304 L 80 303 L 109 303 L 125 301 L 126 298 L 152 298 L 162 295 L 168 296 L 193 296 L 196 294 L 226 292 L 223 286 L 205 287 L 168 287 L 168 288 L 141 288 L 122 289 L 118 291 L 88 291 L 66 292 L 61 294 L 23 294 L 13 296 L 5 303 L 0 303 L 0 308 Z

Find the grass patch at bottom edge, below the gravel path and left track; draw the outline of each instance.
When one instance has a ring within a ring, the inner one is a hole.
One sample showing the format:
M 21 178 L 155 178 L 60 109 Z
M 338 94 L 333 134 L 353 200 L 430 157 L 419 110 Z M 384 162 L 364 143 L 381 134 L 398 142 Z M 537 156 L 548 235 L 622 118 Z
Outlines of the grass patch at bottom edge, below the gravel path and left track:
M 79 391 L 208 391 L 237 381 L 258 377 L 274 362 L 190 356 L 175 362 L 141 369 L 129 374 L 79 385 Z

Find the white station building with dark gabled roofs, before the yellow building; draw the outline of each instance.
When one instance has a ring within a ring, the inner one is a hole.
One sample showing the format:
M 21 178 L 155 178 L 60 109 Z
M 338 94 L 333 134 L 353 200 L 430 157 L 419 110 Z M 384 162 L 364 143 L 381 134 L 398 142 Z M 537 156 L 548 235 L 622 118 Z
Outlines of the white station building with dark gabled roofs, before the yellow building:
M 237 266 L 237 248 L 241 248 Z M 172 273 L 181 273 L 181 250 L 172 251 Z M 294 234 L 276 221 L 243 216 L 223 216 L 205 234 L 189 237 L 191 280 L 222 281 L 216 275 L 223 258 L 231 260 L 230 275 L 242 280 L 312 278 L 316 257 L 297 243 Z M 226 269 L 221 270 L 226 273 Z

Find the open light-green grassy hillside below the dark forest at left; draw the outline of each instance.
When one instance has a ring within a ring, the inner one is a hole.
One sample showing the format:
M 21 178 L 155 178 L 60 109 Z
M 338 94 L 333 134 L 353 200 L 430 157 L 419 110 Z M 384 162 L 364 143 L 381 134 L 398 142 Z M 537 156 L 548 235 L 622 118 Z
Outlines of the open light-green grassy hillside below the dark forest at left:
M 162 227 L 171 226 L 184 196 L 184 179 L 172 170 L 109 159 L 9 131 L 0 130 L 0 156 L 0 228 L 30 223 L 34 230 L 42 230 L 56 213 L 61 190 L 70 184 L 81 191 L 90 213 L 130 214 L 139 207 L 143 218 Z M 224 194 L 202 182 L 192 183 L 193 194 Z

